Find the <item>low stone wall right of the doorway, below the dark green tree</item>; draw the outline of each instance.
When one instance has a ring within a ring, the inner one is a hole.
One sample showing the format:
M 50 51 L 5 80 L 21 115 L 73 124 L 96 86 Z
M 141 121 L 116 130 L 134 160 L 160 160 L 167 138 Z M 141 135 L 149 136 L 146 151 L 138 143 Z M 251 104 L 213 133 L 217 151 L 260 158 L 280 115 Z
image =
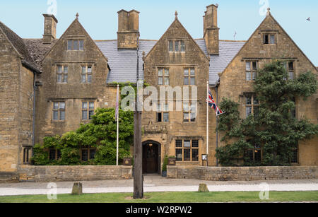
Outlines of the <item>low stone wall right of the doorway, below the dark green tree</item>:
M 167 177 L 212 181 L 300 180 L 318 177 L 317 166 L 293 167 L 200 167 L 167 166 Z

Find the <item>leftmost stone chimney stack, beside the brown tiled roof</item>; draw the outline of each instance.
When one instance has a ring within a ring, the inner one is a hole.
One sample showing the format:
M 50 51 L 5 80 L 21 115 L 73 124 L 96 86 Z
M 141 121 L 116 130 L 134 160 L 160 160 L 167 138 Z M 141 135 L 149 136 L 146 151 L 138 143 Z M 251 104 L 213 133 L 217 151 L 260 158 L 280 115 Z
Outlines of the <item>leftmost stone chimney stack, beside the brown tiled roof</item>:
M 43 35 L 43 43 L 51 44 L 52 40 L 57 38 L 57 18 L 52 14 L 43 14 L 45 18 L 45 30 Z

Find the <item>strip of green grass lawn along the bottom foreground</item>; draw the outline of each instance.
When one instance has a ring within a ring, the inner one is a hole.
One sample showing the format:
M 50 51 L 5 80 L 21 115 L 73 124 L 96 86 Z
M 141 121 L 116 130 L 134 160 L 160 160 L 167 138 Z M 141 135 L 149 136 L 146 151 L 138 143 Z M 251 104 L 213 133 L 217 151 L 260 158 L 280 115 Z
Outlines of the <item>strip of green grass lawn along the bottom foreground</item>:
M 134 200 L 132 193 L 107 194 L 59 194 L 57 200 L 47 195 L 24 195 L 0 197 L 0 203 L 199 203 L 229 201 L 261 201 L 259 192 L 151 192 L 146 199 Z M 269 192 L 264 201 L 318 201 L 318 192 Z

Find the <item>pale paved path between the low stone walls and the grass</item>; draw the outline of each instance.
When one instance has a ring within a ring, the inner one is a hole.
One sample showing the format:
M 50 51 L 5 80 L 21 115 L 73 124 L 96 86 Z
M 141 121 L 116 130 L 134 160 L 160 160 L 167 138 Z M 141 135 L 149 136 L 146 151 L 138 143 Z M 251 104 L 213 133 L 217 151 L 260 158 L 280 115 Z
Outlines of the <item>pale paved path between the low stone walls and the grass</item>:
M 133 180 L 83 181 L 83 193 L 133 192 Z M 318 179 L 314 180 L 266 180 L 264 181 L 229 181 L 216 182 L 204 180 L 174 180 L 165 177 L 145 176 L 144 192 L 196 192 L 199 184 L 208 185 L 210 192 L 259 192 L 269 191 L 318 191 Z M 262 184 L 266 183 L 266 184 Z M 0 184 L 0 196 L 47 194 L 52 189 L 49 183 L 20 182 Z M 73 182 L 57 182 L 57 194 L 69 194 Z M 318 197 L 318 192 L 317 192 Z

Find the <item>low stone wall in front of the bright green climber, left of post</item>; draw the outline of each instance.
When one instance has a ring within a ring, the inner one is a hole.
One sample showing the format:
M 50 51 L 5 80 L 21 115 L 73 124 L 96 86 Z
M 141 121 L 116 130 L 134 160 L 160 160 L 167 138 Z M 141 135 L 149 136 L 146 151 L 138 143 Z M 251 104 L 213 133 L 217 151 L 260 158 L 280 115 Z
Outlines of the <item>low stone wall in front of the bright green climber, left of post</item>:
M 19 181 L 73 182 L 86 180 L 129 180 L 132 166 L 30 166 L 18 168 Z

